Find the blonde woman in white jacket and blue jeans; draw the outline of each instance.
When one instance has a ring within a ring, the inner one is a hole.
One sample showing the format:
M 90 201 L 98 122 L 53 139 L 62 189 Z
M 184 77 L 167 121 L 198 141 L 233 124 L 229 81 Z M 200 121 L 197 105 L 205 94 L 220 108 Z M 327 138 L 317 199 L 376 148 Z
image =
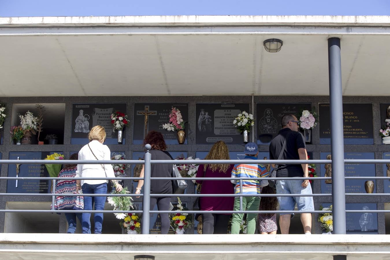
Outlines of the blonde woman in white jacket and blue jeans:
M 107 145 L 106 131 L 103 126 L 94 126 L 88 134 L 89 143 L 78 152 L 79 160 L 110 160 L 111 152 Z M 77 164 L 75 177 L 108 177 L 115 178 L 111 164 Z M 106 194 L 108 180 L 77 180 L 76 192 L 83 189 L 85 194 Z M 121 191 L 122 186 L 118 181 L 113 181 L 116 190 Z M 106 196 L 95 196 L 95 210 L 104 210 Z M 92 197 L 84 196 L 84 210 L 92 210 Z M 82 233 L 87 234 L 90 227 L 91 213 L 82 214 Z M 101 234 L 103 213 L 94 213 L 95 234 Z

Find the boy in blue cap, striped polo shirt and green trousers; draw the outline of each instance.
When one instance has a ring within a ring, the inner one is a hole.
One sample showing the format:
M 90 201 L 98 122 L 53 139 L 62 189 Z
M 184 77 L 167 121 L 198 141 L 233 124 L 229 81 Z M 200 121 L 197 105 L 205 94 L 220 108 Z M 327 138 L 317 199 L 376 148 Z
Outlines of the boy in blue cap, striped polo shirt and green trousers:
M 244 160 L 257 160 L 257 155 L 259 154 L 259 150 L 257 149 L 257 144 L 255 143 L 247 143 L 245 145 L 245 158 Z M 240 177 L 252 177 L 252 178 L 260 178 L 260 177 L 268 177 L 269 173 L 264 164 L 235 164 L 232 170 L 232 178 L 240 178 Z M 239 180 L 231 180 L 232 183 L 236 184 L 235 186 L 235 194 L 240 193 L 240 182 Z M 260 194 L 261 187 L 267 186 L 268 180 L 243 180 L 243 194 Z M 259 210 L 260 206 L 260 197 L 248 196 L 243 197 L 243 210 Z M 234 209 L 240 210 L 240 198 L 234 198 Z M 244 218 L 243 213 L 233 214 L 232 217 L 232 234 L 239 234 L 240 225 Z M 256 219 L 257 213 L 248 213 L 246 215 L 246 221 L 248 223 L 247 226 L 247 234 L 254 234 L 256 230 Z

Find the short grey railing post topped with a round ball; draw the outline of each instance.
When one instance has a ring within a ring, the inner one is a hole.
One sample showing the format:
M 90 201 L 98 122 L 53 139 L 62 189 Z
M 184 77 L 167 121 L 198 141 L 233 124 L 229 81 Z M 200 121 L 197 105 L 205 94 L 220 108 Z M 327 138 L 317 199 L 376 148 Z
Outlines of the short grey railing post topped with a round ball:
M 142 198 L 142 234 L 149 234 L 149 219 L 150 219 L 150 160 L 152 155 L 149 150 L 152 149 L 151 145 L 145 145 L 145 164 L 144 164 L 144 197 Z

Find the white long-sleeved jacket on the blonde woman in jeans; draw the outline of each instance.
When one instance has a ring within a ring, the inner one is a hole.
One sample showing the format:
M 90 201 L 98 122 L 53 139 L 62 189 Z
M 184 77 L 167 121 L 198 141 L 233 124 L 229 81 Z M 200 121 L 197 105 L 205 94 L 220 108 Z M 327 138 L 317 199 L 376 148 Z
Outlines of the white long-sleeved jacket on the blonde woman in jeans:
M 91 147 L 98 160 L 111 160 L 111 152 L 107 145 L 103 145 L 97 140 L 92 140 L 90 141 L 89 146 Z M 96 160 L 95 156 L 92 154 L 88 145 L 84 145 L 80 152 L 78 152 L 79 160 Z M 75 177 L 115 178 L 112 164 L 103 165 L 105 170 L 103 170 L 101 164 L 77 164 Z M 101 184 L 104 182 L 108 182 L 108 180 L 81 180 L 81 185 L 83 186 L 84 183 Z

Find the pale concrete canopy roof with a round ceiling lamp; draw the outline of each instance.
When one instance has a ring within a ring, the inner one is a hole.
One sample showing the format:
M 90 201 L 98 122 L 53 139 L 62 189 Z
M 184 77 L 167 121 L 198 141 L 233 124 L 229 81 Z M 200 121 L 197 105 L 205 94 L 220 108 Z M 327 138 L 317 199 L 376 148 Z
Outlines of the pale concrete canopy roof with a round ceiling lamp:
M 390 16 L 118 16 L 0 18 L 0 96 L 328 95 L 329 37 L 344 95 L 389 95 Z

